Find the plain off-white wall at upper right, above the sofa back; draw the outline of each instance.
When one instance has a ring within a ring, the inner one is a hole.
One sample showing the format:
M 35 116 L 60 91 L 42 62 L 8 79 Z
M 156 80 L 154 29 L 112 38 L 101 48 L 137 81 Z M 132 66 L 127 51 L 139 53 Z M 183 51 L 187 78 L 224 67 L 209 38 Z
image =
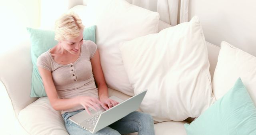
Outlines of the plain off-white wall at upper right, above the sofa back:
M 194 15 L 208 42 L 226 41 L 256 56 L 256 0 L 190 0 L 189 20 Z

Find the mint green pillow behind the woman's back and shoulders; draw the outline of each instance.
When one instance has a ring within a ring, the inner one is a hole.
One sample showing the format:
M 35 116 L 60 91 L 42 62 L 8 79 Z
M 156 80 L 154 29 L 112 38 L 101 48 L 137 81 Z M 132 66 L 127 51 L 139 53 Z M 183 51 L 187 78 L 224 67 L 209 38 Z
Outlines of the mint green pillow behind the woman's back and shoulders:
M 96 26 L 84 28 L 84 40 L 92 40 L 95 43 L 95 30 Z M 27 28 L 27 31 L 30 34 L 31 60 L 33 64 L 30 97 L 43 97 L 46 96 L 46 93 L 36 61 L 42 53 L 54 47 L 58 42 L 54 40 L 55 34 L 53 31 L 33 28 Z

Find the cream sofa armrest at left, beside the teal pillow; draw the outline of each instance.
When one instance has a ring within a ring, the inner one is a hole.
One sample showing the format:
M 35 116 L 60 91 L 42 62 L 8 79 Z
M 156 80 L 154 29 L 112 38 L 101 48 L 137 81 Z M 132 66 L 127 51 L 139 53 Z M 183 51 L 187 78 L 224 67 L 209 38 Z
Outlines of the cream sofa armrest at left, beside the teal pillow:
M 8 95 L 2 103 L 12 105 L 15 116 L 38 98 L 30 97 L 32 62 L 29 40 L 17 44 L 0 56 L 0 95 Z

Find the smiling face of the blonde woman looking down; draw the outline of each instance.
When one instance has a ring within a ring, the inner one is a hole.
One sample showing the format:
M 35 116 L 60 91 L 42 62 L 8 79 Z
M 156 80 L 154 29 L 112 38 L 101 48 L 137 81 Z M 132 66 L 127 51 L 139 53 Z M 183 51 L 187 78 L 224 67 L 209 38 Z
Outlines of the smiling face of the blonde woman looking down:
M 81 45 L 83 44 L 83 30 L 80 31 L 80 36 L 71 40 L 62 40 L 60 44 L 62 47 L 71 54 L 78 54 Z

